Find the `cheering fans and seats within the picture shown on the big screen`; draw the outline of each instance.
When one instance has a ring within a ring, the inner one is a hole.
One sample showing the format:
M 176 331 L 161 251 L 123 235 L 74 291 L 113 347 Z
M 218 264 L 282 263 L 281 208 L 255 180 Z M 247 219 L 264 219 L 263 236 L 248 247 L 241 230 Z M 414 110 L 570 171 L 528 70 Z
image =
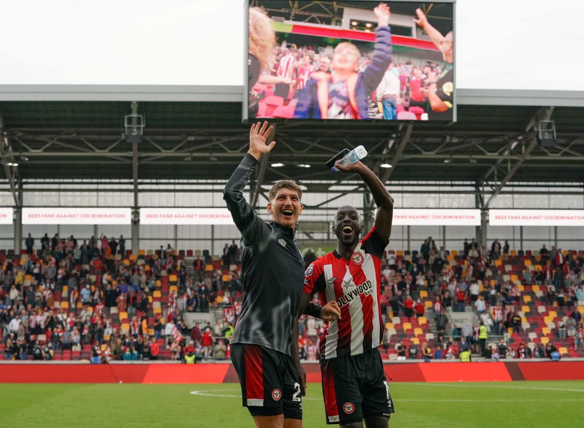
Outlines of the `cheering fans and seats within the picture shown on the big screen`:
M 274 33 L 265 11 L 251 8 L 249 118 L 453 120 L 452 31 L 441 34 L 412 8 L 434 50 L 398 50 L 389 6 L 371 16 L 376 27 L 367 23 L 364 33 L 374 39 L 359 41 Z

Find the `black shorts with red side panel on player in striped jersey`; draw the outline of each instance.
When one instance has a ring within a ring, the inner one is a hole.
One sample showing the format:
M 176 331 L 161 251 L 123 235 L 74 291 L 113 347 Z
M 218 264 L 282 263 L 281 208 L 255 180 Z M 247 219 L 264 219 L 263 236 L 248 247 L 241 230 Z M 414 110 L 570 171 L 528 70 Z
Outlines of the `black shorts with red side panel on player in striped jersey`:
M 360 422 L 394 413 L 390 387 L 377 348 L 360 355 L 321 360 L 326 423 Z

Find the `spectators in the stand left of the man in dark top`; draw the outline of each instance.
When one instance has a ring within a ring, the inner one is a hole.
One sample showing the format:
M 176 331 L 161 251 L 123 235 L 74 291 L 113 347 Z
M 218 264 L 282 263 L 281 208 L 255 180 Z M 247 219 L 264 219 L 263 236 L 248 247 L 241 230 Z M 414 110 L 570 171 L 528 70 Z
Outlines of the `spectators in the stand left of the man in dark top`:
M 225 358 L 241 308 L 241 254 L 235 243 L 226 244 L 223 265 L 219 262 L 223 275 L 214 265 L 207 269 L 215 263 L 209 255 L 194 258 L 188 275 L 184 257 L 170 244 L 151 255 L 132 255 L 123 236 L 92 237 L 79 245 L 74 236 L 45 234 L 40 248 L 35 244 L 29 234 L 25 254 L 0 254 L 0 357 Z M 225 275 L 227 266 L 233 271 Z M 173 287 L 168 286 L 171 276 Z M 214 328 L 185 324 L 186 313 L 225 306 Z

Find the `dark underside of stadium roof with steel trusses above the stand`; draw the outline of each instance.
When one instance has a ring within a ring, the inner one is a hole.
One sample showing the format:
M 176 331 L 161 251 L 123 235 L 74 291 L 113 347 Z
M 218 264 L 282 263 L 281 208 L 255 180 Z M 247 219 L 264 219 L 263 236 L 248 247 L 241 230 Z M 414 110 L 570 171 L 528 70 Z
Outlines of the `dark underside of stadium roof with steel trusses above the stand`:
M 133 177 L 132 145 L 123 138 L 130 103 L 6 101 L 0 112 L 9 142 L 0 155 L 4 163 L 19 163 L 23 180 Z M 136 153 L 140 179 L 225 180 L 246 152 L 249 125 L 241 122 L 241 103 L 142 102 L 138 113 L 145 115 Z M 541 118 L 555 121 L 555 148 L 532 144 Z M 449 125 L 274 120 L 278 144 L 263 181 L 338 180 L 324 162 L 363 145 L 370 166 L 393 164 L 385 169 L 392 181 L 582 183 L 583 118 L 580 107 L 459 105 L 458 121 Z

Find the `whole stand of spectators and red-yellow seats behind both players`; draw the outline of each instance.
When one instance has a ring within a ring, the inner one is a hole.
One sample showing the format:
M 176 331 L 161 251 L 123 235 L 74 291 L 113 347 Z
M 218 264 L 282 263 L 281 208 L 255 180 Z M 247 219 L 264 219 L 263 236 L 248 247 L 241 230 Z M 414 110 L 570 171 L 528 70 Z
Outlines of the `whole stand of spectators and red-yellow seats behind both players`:
M 221 255 L 170 244 L 133 254 L 123 237 L 36 242 L 0 250 L 0 359 L 230 360 L 242 298 L 235 241 Z M 315 259 L 306 252 L 307 266 Z M 419 251 L 390 243 L 382 263 L 383 360 L 584 357 L 583 250 L 467 240 L 447 251 L 430 237 Z M 456 325 L 460 313 L 475 316 Z M 187 325 L 192 314 L 213 322 Z M 319 359 L 324 327 L 303 316 L 301 359 Z

